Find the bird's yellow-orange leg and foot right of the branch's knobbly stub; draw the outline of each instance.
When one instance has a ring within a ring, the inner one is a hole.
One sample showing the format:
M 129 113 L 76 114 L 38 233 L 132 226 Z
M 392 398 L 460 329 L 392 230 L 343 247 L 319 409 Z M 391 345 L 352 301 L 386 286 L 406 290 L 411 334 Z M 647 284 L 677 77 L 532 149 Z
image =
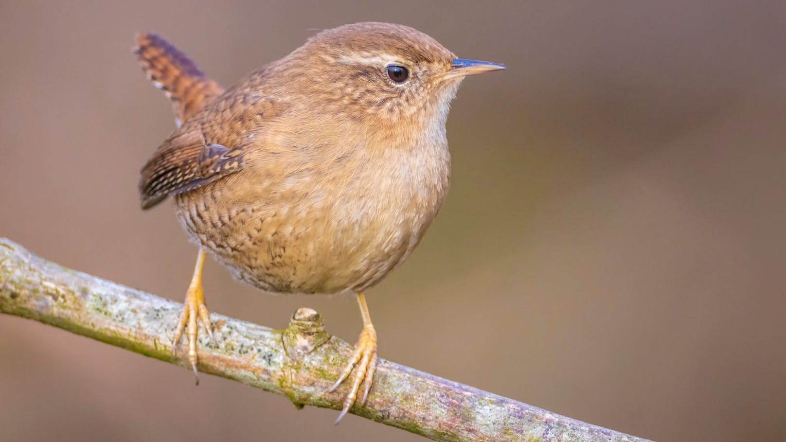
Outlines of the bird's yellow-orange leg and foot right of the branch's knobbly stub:
M 357 364 L 354 377 L 352 378 L 352 386 L 347 398 L 344 400 L 343 410 L 336 419 L 339 423 L 344 414 L 354 404 L 354 400 L 358 397 L 358 390 L 360 383 L 363 382 L 363 396 L 360 403 L 365 403 L 365 399 L 369 396 L 369 389 L 374 380 L 374 370 L 376 370 L 376 330 L 371 323 L 371 316 L 369 315 L 369 308 L 365 305 L 365 296 L 363 292 L 358 292 L 358 305 L 360 306 L 360 314 L 363 317 L 363 331 L 360 332 L 358 343 L 354 344 L 354 352 L 344 367 L 339 380 L 330 388 L 329 391 L 334 391 L 346 379 L 352 371 L 352 368 Z

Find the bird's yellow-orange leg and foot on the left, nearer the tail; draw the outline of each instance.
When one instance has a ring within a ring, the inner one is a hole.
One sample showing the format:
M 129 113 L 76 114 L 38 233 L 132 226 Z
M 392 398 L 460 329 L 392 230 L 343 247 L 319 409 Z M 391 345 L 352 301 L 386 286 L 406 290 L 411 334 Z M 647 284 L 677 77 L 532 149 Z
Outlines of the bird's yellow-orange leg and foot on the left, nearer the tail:
M 180 337 L 183 330 L 186 329 L 185 335 L 189 338 L 189 363 L 191 369 L 196 376 L 196 385 L 199 385 L 199 376 L 196 374 L 196 330 L 198 326 L 197 320 L 202 322 L 202 326 L 208 331 L 211 339 L 213 339 L 213 332 L 210 326 L 210 315 L 208 308 L 204 304 L 204 293 L 202 293 L 202 267 L 204 266 L 204 250 L 200 249 L 199 254 L 196 256 L 196 266 L 194 266 L 194 274 L 189 284 L 189 290 L 185 293 L 185 303 L 183 304 L 183 312 L 180 315 L 180 321 L 177 328 L 174 330 L 174 339 L 172 340 L 172 352 L 177 351 L 178 344 L 180 344 Z

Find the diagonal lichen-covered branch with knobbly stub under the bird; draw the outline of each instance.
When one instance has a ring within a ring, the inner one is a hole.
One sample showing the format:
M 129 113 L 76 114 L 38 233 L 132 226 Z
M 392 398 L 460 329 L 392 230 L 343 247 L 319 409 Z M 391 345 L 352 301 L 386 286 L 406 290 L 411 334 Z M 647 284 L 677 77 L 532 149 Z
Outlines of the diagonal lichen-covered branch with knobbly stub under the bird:
M 0 238 L 0 312 L 188 366 L 173 355 L 181 304 L 43 260 Z M 287 396 L 298 407 L 339 410 L 347 386 L 328 392 L 351 354 L 320 315 L 300 308 L 286 330 L 211 314 L 216 342 L 201 338 L 199 370 Z M 432 440 L 644 441 L 380 359 L 364 418 Z

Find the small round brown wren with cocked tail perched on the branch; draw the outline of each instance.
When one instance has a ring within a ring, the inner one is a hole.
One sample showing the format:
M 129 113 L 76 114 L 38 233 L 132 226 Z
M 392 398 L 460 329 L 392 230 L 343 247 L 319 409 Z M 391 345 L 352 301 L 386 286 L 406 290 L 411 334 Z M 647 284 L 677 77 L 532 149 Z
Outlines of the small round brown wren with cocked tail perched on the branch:
M 332 390 L 355 367 L 336 422 L 376 368 L 363 295 L 421 241 L 445 200 L 445 121 L 461 79 L 504 69 L 456 58 L 399 24 L 321 31 L 223 90 L 169 43 L 134 48 L 174 104 L 178 128 L 141 170 L 142 208 L 174 196 L 200 246 L 173 348 L 187 328 L 196 374 L 197 321 L 211 333 L 205 252 L 235 278 L 275 293 L 357 293 L 363 330 Z

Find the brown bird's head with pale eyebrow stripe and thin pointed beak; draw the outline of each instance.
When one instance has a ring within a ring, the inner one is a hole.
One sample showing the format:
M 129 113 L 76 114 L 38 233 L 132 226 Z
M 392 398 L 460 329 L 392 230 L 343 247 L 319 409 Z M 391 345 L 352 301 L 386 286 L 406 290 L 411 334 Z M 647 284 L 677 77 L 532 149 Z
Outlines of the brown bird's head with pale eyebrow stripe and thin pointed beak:
M 457 58 L 417 29 L 373 22 L 321 31 L 291 63 L 305 69 L 297 87 L 324 98 L 331 113 L 391 124 L 444 121 L 461 79 L 505 68 Z

